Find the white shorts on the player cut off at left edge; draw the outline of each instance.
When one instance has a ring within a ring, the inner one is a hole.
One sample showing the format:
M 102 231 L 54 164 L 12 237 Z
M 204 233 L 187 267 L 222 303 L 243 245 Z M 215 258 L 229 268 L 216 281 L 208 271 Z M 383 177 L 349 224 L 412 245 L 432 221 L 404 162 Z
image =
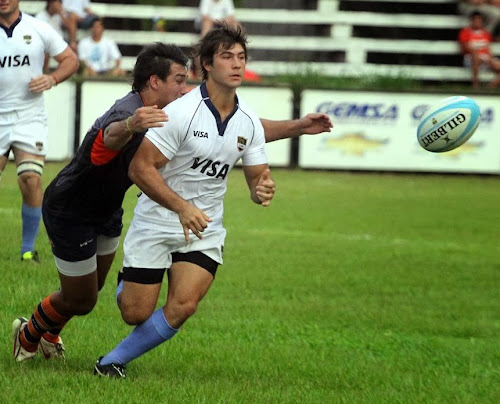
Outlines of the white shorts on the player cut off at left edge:
M 36 156 L 47 155 L 47 116 L 14 111 L 0 114 L 0 155 L 12 147 Z

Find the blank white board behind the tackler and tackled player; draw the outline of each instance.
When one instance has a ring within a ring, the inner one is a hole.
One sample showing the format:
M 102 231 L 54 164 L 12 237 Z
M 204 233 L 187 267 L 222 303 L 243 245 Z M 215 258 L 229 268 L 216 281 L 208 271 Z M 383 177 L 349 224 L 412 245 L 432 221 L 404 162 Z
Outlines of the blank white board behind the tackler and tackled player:
M 80 143 L 95 120 L 130 90 L 131 86 L 122 82 L 87 81 L 82 84 Z M 241 87 L 238 89 L 238 96 L 261 118 L 282 120 L 292 117 L 293 94 L 289 89 Z M 270 165 L 288 166 L 290 140 L 267 144 L 266 154 Z

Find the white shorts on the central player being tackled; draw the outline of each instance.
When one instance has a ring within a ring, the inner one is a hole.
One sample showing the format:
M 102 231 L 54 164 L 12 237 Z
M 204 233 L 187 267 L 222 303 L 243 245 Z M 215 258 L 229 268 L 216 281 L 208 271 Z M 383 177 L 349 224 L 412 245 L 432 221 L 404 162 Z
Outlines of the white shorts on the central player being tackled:
M 190 242 L 186 243 L 180 223 L 175 226 L 152 226 L 134 218 L 123 242 L 123 266 L 168 269 L 172 265 L 172 253 L 193 251 L 199 251 L 222 264 L 226 230 L 222 226 L 210 229 L 211 224 L 202 233 L 201 240 L 190 233 Z

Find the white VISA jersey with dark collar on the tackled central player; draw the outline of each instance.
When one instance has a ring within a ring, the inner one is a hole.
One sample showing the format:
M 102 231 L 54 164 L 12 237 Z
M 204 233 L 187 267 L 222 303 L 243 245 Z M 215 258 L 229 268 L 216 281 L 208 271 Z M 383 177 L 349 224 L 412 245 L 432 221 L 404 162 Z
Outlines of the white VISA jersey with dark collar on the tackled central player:
M 205 84 L 170 103 L 164 111 L 169 121 L 146 133 L 170 160 L 160 174 L 173 191 L 212 219 L 209 229 L 222 227 L 229 171 L 240 158 L 244 166 L 267 164 L 260 119 L 237 99 L 235 110 L 221 122 Z M 146 195 L 139 198 L 135 215 L 151 223 L 152 228 L 167 225 L 182 234 L 177 214 Z

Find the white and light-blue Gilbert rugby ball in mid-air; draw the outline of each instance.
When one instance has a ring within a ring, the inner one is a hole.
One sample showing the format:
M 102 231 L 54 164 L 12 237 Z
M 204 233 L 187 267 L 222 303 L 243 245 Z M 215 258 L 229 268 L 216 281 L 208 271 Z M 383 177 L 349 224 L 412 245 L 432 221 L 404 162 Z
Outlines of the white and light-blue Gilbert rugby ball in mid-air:
M 434 153 L 456 149 L 474 134 L 480 121 L 479 106 L 473 99 L 445 98 L 422 116 L 417 128 L 418 143 Z

